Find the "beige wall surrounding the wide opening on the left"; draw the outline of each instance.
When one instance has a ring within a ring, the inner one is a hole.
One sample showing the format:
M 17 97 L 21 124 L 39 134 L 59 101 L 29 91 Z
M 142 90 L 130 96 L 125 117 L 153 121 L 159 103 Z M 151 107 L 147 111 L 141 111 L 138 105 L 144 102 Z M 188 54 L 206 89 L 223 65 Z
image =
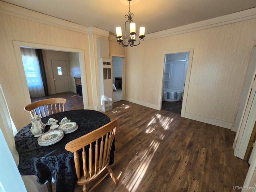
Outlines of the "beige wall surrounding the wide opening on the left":
M 10 114 L 19 130 L 30 122 L 30 115 L 24 111 L 26 95 L 22 88 L 13 41 L 60 46 L 84 50 L 88 107 L 93 106 L 88 35 L 30 20 L 0 14 L 0 83 L 2 85 Z

